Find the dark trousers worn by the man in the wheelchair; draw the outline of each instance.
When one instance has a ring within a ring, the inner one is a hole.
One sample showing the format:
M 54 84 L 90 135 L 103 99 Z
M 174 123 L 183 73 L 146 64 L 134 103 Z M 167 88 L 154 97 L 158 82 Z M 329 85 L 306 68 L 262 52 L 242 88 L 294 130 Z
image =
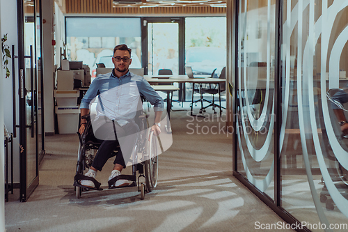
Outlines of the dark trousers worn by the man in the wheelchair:
M 105 123 L 98 128 L 95 132 L 95 137 L 106 137 L 109 139 L 102 141 L 93 160 L 92 167 L 98 171 L 102 171 L 106 161 L 115 155 L 116 158 L 113 164 L 120 164 L 126 167 L 127 162 L 131 161 L 132 151 L 138 138 L 138 132 L 139 126 L 136 125 L 135 122 L 129 122 L 126 125 L 120 126 L 115 121 L 114 124 L 113 122 Z M 118 148 L 118 145 L 120 145 L 120 148 Z M 118 150 L 118 152 L 114 153 L 114 150 Z

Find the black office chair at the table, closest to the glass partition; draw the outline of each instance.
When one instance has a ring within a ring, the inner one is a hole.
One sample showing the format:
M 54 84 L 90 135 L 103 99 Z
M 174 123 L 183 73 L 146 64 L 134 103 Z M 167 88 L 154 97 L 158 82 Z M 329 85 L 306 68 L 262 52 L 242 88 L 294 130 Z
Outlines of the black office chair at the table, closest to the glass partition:
M 212 73 L 212 77 L 214 77 L 214 72 Z M 226 79 L 226 67 L 223 67 L 223 69 L 221 70 L 221 74 L 219 76 L 219 79 Z M 213 107 L 214 114 L 216 114 L 215 107 L 226 109 L 225 107 L 221 107 L 221 95 L 219 95 L 219 105 L 215 104 L 214 95 L 216 93 L 219 93 L 219 88 L 218 87 L 219 87 L 219 84 L 207 84 L 206 86 L 201 88 L 200 94 L 201 94 L 202 102 L 206 101 L 206 102 L 209 102 L 210 104 L 207 105 L 206 107 L 202 107 L 202 109 L 200 109 L 200 113 L 202 113 L 202 111 L 205 112 L 205 109 L 207 109 L 208 107 Z M 223 91 L 226 91 L 226 83 L 221 83 L 220 84 L 220 94 Z M 213 97 L 212 101 L 208 101 L 208 100 L 203 99 L 203 93 L 211 94 L 212 97 Z

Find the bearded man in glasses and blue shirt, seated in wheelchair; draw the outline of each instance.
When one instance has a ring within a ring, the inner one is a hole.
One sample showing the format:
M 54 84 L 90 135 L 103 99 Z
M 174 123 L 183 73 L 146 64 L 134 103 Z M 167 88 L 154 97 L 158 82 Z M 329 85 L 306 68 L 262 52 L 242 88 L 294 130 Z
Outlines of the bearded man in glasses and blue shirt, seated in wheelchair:
M 118 150 L 118 152 L 109 180 L 120 176 L 122 169 L 127 166 L 139 132 L 135 116 L 139 107 L 142 109 L 141 96 L 154 105 L 155 122 L 151 130 L 156 136 L 161 133 L 159 123 L 164 110 L 163 99 L 143 77 L 129 72 L 128 68 L 132 63 L 131 52 L 132 49 L 129 49 L 127 45 L 117 45 L 113 49 L 112 57 L 115 68 L 110 73 L 98 75 L 81 100 L 79 133 L 84 132 L 87 121 L 83 116 L 89 114 L 90 104 L 97 97 L 96 116 L 90 120 L 95 137 L 102 139 L 93 163 L 85 174 L 89 179 L 80 181 L 84 187 L 98 188 L 90 178 L 96 178 L 97 171 L 102 171 L 106 161 L 116 154 L 114 150 Z M 120 149 L 118 149 L 118 144 L 120 144 Z M 129 180 L 119 179 L 113 187 L 129 184 L 131 184 Z

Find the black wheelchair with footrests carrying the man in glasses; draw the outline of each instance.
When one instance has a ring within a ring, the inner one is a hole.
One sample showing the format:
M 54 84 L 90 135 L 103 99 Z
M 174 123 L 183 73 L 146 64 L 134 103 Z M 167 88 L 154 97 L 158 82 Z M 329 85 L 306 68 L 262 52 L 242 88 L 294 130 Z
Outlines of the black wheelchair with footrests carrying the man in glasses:
M 93 163 L 95 154 L 97 153 L 102 140 L 95 138 L 92 129 L 92 123 L 90 115 L 82 116 L 87 123 L 85 130 L 79 135 L 79 154 L 77 156 L 77 168 L 76 175 L 74 176 L 74 190 L 76 192 L 77 199 L 81 198 L 82 192 L 89 190 L 102 190 L 101 183 L 97 182 L 94 178 L 84 176 Z M 132 175 L 120 175 L 116 178 L 109 180 L 109 189 L 120 188 L 113 187 L 116 180 L 125 179 L 131 180 L 132 184 L 123 187 L 136 187 L 138 186 L 138 192 L 140 192 L 140 199 L 145 198 L 145 192 L 151 192 L 157 186 L 158 176 L 158 157 L 157 157 L 157 138 L 153 131 L 150 130 L 148 123 L 148 114 L 144 111 L 141 114 L 137 114 L 136 123 L 139 125 L 139 135 L 136 141 L 136 146 L 132 152 Z M 120 146 L 113 152 L 117 155 L 120 150 Z M 136 178 L 137 177 L 137 178 Z M 145 183 L 140 179 L 145 179 Z M 92 180 L 95 183 L 95 189 L 89 189 L 80 184 L 80 180 L 87 179 Z

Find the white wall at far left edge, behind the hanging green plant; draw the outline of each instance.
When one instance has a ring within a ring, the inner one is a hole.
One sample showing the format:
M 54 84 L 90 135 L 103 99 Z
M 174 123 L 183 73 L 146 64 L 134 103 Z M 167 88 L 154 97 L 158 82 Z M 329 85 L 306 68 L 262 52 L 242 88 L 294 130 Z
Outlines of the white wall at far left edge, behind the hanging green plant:
M 17 43 L 17 1 L 8 1 L 8 0 L 0 0 L 1 3 L 1 38 L 4 34 L 8 34 L 8 40 L 5 42 L 7 45 L 10 46 L 10 52 L 12 54 L 12 45 L 15 45 L 15 54 L 18 54 L 18 43 Z M 2 61 L 2 56 L 1 56 Z M 1 62 L 2 64 L 2 62 Z M 5 71 L 1 68 L 1 84 L 0 84 L 0 92 L 2 93 L 1 103 L 3 110 L 0 110 L 0 112 L 3 112 L 3 123 L 0 121 L 0 126 L 3 127 L 3 124 L 6 125 L 8 132 L 13 132 L 13 102 L 12 102 L 12 96 L 13 96 L 13 86 L 12 86 L 12 80 L 13 80 L 13 73 L 12 73 L 12 60 L 9 60 L 8 68 L 11 72 L 11 75 L 9 78 L 5 78 Z M 1 65 L 2 67 L 2 65 Z M 16 92 L 18 90 L 18 61 L 15 59 L 15 80 L 16 80 Z M 16 110 L 17 110 L 17 124 L 19 123 L 19 117 L 18 117 L 18 94 L 16 94 Z M 1 129 L 2 130 L 2 129 Z M 17 129 L 17 133 L 19 130 Z M 2 134 L 2 132 L 0 133 Z M 3 140 L 1 139 L 1 144 Z M 15 183 L 19 183 L 19 137 L 17 134 L 17 138 L 14 139 L 13 142 L 13 160 L 15 160 L 13 164 L 13 181 Z M 1 149 L 1 152 L 3 152 L 3 149 Z M 17 161 L 17 162 L 16 162 Z M 9 164 L 10 165 L 10 164 Z M 0 167 L 3 168 L 3 164 L 0 164 Z M 0 177 L 0 180 L 3 180 L 3 178 Z M 1 184 L 0 184 L 1 185 Z M 1 185 L 2 187 L 3 185 Z M 1 194 L 3 191 L 1 191 Z

